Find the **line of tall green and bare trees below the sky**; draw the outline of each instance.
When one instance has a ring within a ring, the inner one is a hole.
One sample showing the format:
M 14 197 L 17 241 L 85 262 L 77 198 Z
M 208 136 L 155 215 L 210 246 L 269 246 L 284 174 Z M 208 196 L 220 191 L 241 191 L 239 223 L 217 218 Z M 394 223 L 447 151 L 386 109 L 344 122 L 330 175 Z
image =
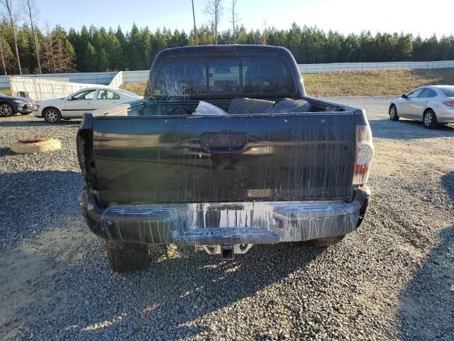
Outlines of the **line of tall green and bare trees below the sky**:
M 138 28 L 131 31 L 118 28 L 82 26 L 80 31 L 62 26 L 39 28 L 32 0 L 22 0 L 28 9 L 26 18 L 19 21 L 8 11 L 11 0 L 0 0 L 4 5 L 0 22 L 0 69 L 5 75 L 20 73 L 101 72 L 117 70 L 147 70 L 155 55 L 164 48 L 207 44 L 259 44 L 288 48 L 297 63 L 348 63 L 454 60 L 454 36 L 435 35 L 422 39 L 404 33 L 376 33 L 343 35 L 316 27 L 300 27 L 296 23 L 288 29 L 267 27 L 247 30 L 238 26 L 235 6 L 231 3 L 231 28 L 218 31 L 223 7 L 220 0 L 210 0 L 205 9 L 208 24 L 194 27 L 189 33 L 168 28 Z M 28 6 L 27 6 L 28 4 Z

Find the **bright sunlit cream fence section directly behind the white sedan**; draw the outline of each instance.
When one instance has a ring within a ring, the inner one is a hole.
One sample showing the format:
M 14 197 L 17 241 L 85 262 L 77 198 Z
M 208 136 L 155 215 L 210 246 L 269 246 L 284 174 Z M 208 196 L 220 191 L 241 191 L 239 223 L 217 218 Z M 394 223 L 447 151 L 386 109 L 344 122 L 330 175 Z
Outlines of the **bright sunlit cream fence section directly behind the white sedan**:
M 67 78 L 11 77 L 13 96 L 27 96 L 35 101 L 66 97 L 72 92 L 90 87 L 92 84 L 68 82 Z

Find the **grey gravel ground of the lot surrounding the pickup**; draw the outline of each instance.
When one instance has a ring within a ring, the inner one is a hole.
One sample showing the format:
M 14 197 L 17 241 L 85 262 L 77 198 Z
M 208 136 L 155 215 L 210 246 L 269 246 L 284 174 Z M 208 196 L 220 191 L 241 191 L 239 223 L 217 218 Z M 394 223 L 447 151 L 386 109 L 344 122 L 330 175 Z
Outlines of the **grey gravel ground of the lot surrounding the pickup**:
M 254 246 L 234 261 L 153 247 L 148 271 L 112 274 L 85 227 L 77 121 L 0 119 L 1 340 L 453 340 L 454 126 L 365 107 L 377 156 L 358 231 L 336 247 Z M 50 153 L 6 146 L 41 134 Z

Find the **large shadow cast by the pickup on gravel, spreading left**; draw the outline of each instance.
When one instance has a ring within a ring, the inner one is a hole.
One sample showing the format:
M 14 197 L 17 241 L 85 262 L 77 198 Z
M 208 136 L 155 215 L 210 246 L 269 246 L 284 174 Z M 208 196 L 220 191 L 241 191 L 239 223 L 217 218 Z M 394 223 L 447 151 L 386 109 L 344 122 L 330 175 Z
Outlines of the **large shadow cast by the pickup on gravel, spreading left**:
M 6 173 L 0 188 L 3 340 L 176 340 L 210 333 L 203 321 L 208 313 L 226 308 L 226 317 L 246 318 L 234 307 L 238 301 L 260 300 L 272 312 L 283 303 L 270 298 L 267 287 L 294 286 L 292 273 L 326 252 L 292 243 L 255 245 L 234 261 L 218 261 L 204 251 L 179 259 L 175 249 L 157 246 L 146 271 L 119 276 L 109 269 L 104 242 L 79 215 L 79 173 Z M 320 276 L 329 271 L 327 266 Z M 305 285 L 311 287 L 312 279 Z M 291 303 L 300 299 L 286 298 L 296 317 Z M 196 318 L 202 321 L 189 325 Z

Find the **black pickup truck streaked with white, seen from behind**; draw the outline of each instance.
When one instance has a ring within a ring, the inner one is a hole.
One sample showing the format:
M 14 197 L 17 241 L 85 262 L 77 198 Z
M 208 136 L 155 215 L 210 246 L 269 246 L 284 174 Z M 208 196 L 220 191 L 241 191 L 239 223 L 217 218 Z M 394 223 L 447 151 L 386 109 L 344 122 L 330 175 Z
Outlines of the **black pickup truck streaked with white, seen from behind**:
M 306 97 L 285 48 L 163 50 L 144 99 L 101 114 L 77 133 L 79 202 L 116 272 L 146 267 L 151 244 L 221 259 L 253 244 L 328 246 L 365 217 L 365 111 Z

